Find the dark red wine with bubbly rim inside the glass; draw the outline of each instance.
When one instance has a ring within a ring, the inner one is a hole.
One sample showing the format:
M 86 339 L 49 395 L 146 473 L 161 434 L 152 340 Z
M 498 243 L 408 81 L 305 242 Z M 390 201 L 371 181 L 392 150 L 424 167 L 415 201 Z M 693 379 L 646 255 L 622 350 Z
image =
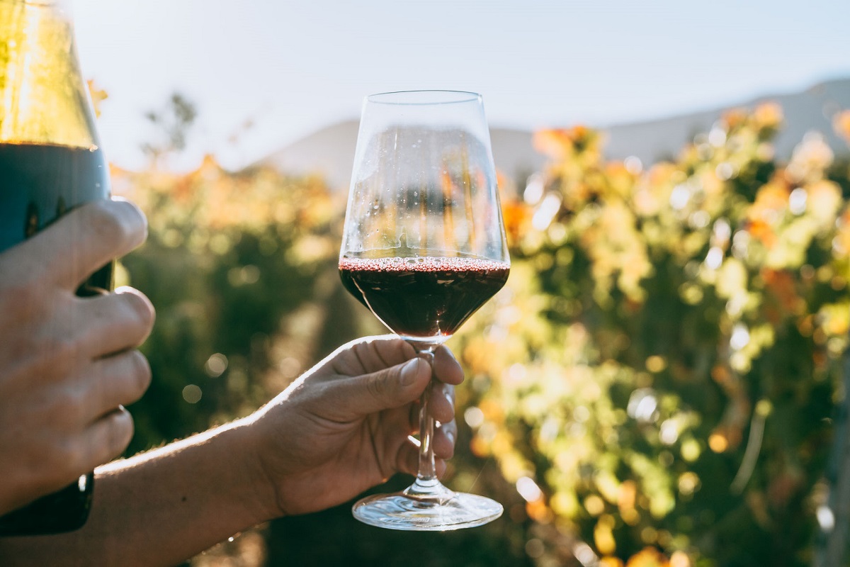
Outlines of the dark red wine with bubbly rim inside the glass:
M 479 258 L 341 258 L 355 298 L 402 337 L 450 337 L 507 281 L 507 263 Z

